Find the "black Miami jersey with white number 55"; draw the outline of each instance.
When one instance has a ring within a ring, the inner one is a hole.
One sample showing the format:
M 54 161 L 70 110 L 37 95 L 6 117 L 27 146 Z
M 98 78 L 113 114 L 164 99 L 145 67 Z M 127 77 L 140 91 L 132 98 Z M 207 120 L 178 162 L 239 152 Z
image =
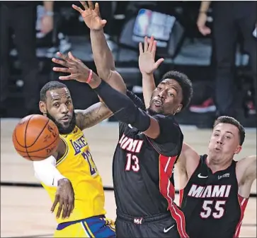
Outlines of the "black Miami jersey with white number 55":
M 239 237 L 248 199 L 238 194 L 236 162 L 212 174 L 206 157 L 200 156 L 197 169 L 180 191 L 188 235 L 190 238 Z

